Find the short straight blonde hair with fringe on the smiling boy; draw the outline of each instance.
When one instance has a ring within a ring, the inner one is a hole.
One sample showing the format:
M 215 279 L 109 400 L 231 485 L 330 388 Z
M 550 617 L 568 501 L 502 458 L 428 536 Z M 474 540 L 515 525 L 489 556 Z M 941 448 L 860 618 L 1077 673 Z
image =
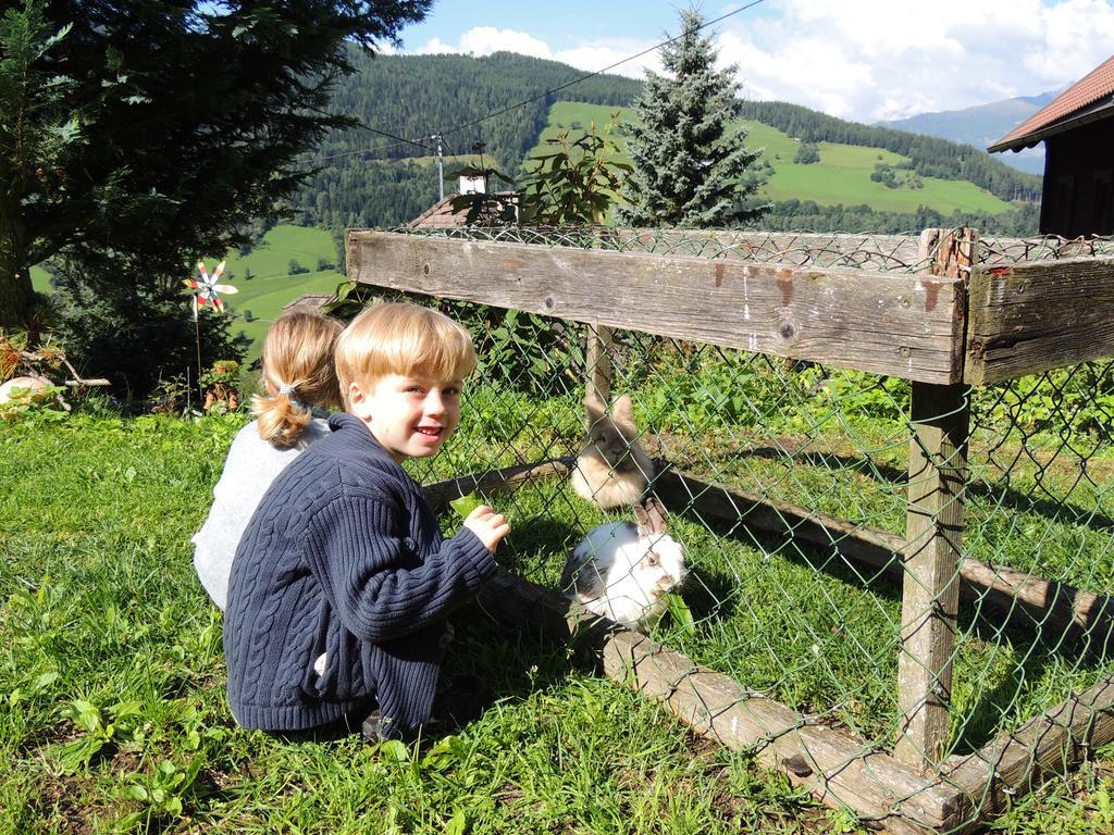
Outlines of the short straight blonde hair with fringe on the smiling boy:
M 462 380 L 475 369 L 468 331 L 443 313 L 416 304 L 369 307 L 336 342 L 336 376 L 345 405 L 352 383 L 373 386 L 388 374 Z

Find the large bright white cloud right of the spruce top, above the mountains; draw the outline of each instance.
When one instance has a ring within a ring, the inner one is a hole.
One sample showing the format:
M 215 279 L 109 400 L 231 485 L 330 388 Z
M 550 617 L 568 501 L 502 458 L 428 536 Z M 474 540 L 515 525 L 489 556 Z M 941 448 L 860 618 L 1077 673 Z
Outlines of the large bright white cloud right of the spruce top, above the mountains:
M 1108 0 L 783 0 L 724 21 L 744 92 L 858 121 L 1057 89 L 1110 57 Z

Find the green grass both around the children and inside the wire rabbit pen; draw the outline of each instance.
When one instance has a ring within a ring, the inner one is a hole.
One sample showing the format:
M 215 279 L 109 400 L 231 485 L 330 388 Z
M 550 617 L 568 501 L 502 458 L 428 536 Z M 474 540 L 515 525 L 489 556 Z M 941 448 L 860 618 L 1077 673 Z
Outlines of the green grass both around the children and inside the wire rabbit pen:
M 677 466 L 817 511 L 903 530 L 908 391 L 896 381 L 735 352 L 618 345 L 645 443 Z M 577 449 L 578 382 L 550 353 L 515 385 L 485 364 L 460 429 L 420 481 Z M 637 358 L 635 358 L 637 357 Z M 482 357 L 481 357 L 482 358 Z M 543 394 L 539 394 L 543 393 Z M 548 395 L 544 394 L 548 393 Z M 993 393 L 991 393 L 993 394 Z M 978 401 L 965 549 L 1071 584 L 1114 584 L 1114 452 L 1064 432 L 999 432 Z M 236 728 L 221 616 L 190 566 L 243 418 L 77 414 L 0 432 L 0 835 L 70 832 L 827 833 L 856 831 L 749 756 L 697 740 L 584 661 L 479 610 L 455 618 L 449 666 L 497 700 L 423 747 L 282 740 Z M 1086 461 L 1086 464 L 1082 463 Z M 1086 477 L 1084 478 L 1084 470 Z M 501 564 L 556 583 L 606 519 L 566 480 L 491 497 L 514 532 Z M 459 520 L 442 518 L 446 530 Z M 690 631 L 655 637 L 818 721 L 887 748 L 900 724 L 900 589 L 829 549 L 727 530 L 674 508 Z M 1110 660 L 1003 629 L 964 607 L 950 753 L 962 754 L 1110 675 Z M 1105 833 L 1114 749 L 998 826 Z M 1048 826 L 1058 826 L 1049 829 Z M 847 828 L 843 828 L 847 826 Z M 1105 827 L 1105 828 L 1104 828 Z

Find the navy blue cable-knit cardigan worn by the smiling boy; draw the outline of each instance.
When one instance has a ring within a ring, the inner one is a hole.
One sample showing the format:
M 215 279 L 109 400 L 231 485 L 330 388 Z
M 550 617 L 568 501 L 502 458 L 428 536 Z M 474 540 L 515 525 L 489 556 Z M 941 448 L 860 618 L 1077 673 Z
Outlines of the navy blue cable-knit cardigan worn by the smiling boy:
M 264 494 L 233 560 L 224 655 L 236 721 L 305 730 L 378 703 L 401 731 L 430 718 L 446 616 L 495 572 L 461 528 L 350 414 Z M 324 655 L 324 671 L 314 662 Z

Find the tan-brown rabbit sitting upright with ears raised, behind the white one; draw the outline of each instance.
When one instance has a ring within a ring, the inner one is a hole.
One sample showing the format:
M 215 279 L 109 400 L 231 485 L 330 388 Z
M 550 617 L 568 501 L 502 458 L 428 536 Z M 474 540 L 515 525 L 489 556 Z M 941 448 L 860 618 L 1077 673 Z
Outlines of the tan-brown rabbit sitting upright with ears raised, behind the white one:
M 638 444 L 631 395 L 624 394 L 612 409 L 593 396 L 585 397 L 590 429 L 573 470 L 573 490 L 598 508 L 631 507 L 646 492 L 654 465 Z

